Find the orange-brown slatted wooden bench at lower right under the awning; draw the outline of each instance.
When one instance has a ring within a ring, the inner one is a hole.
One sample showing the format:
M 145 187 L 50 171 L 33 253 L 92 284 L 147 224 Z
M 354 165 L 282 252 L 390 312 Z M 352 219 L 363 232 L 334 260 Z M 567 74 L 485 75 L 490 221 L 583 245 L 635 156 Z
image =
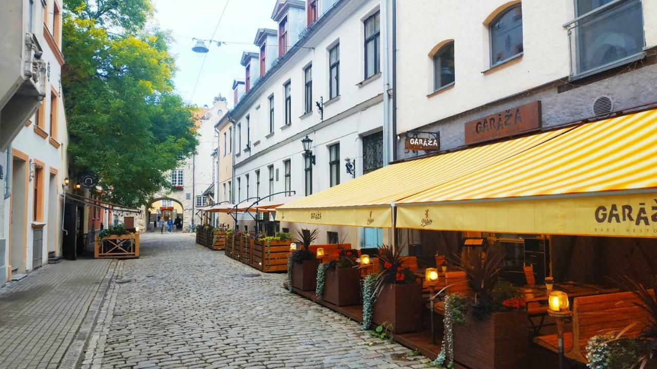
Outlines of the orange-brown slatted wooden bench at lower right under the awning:
M 573 332 L 564 332 L 565 356 L 586 363 L 586 345 L 599 334 L 620 332 L 631 324 L 625 336 L 636 337 L 648 323 L 645 310 L 634 303 L 639 298 L 633 292 L 576 297 L 573 303 Z M 534 337 L 534 343 L 558 352 L 556 334 Z

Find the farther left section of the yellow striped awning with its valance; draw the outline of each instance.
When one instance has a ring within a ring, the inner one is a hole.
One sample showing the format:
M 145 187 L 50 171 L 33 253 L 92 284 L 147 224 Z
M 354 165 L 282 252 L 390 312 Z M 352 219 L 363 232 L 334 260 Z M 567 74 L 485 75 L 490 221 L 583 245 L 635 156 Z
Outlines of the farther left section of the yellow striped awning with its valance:
M 569 129 L 396 163 L 277 208 L 280 221 L 391 227 L 390 204 L 503 162 Z

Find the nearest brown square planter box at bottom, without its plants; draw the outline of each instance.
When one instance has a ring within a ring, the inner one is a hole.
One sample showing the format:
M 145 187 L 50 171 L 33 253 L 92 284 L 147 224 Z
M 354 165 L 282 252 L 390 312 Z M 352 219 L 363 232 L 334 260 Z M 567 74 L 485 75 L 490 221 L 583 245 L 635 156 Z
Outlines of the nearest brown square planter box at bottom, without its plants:
M 529 350 L 527 313 L 493 313 L 486 320 L 470 319 L 454 326 L 454 360 L 470 368 L 526 369 Z

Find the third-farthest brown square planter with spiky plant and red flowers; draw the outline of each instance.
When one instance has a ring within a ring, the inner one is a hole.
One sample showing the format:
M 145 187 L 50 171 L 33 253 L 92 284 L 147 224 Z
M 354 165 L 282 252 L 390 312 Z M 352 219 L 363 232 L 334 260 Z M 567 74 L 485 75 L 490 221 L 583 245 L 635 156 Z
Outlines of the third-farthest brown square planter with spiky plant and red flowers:
M 404 247 L 382 246 L 378 257 L 382 269 L 371 274 L 363 286 L 363 328 L 371 322 L 387 324 L 394 334 L 415 332 L 422 326 L 422 285 L 411 269 L 404 267 Z

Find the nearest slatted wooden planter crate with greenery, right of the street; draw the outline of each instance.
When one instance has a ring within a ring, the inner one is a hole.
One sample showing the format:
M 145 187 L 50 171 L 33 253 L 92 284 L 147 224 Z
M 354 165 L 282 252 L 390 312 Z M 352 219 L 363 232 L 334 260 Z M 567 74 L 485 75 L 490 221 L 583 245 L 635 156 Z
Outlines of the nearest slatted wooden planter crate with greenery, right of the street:
M 263 272 L 286 271 L 293 239 L 287 232 L 276 232 L 275 236 L 260 232 L 253 243 L 251 266 Z

